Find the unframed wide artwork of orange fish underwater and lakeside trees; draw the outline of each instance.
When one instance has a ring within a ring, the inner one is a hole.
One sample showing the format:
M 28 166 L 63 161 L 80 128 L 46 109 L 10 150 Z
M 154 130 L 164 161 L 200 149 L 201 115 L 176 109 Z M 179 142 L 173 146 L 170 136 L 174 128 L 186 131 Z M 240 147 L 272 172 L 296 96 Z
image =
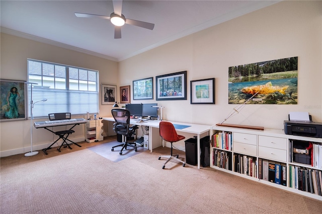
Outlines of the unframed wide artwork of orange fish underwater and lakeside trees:
M 297 57 L 228 68 L 228 104 L 297 104 Z

